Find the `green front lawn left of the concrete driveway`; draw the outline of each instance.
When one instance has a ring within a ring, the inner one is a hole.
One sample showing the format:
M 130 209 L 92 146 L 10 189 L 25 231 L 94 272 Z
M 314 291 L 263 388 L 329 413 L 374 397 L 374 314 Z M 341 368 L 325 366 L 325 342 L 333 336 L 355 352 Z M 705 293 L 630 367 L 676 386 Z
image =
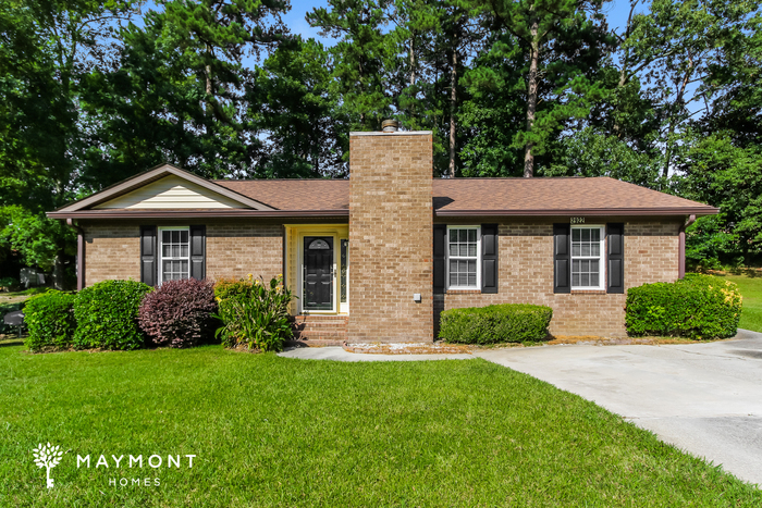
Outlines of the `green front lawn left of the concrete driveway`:
M 341 363 L 219 346 L 29 355 L 7 343 L 0 426 L 3 507 L 762 504 L 720 468 L 483 360 Z M 32 457 L 47 442 L 66 450 L 50 491 Z M 101 454 L 111 468 L 95 468 Z M 197 457 L 193 469 L 113 467 L 130 454 Z M 122 476 L 161 485 L 109 485 Z

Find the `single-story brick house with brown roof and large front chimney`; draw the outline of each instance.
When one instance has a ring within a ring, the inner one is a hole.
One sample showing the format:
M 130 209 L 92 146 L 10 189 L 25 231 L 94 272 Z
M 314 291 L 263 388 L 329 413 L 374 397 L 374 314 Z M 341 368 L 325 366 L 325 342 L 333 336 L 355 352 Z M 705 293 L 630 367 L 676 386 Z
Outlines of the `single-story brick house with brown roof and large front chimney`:
M 607 177 L 432 177 L 430 132 L 353 133 L 349 179 L 208 181 L 164 164 L 49 213 L 78 285 L 283 273 L 305 343 L 431 342 L 442 310 L 553 308 L 551 332 L 626 335 L 626 289 L 685 272 L 715 208 Z

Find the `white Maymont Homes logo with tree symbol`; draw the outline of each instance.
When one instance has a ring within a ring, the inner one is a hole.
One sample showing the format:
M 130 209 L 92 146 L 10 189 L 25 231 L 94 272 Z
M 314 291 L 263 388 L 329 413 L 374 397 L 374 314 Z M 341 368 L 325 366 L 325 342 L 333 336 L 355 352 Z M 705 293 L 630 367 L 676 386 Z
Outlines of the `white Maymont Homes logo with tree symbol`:
M 53 487 L 53 479 L 50 478 L 50 470 L 53 469 L 56 466 L 61 462 L 61 459 L 63 458 L 64 453 L 61 450 L 60 446 L 52 446 L 50 443 L 47 445 L 42 446 L 42 444 L 37 445 L 37 448 L 33 449 L 33 455 L 35 457 L 35 464 L 37 464 L 38 468 L 45 468 L 47 470 L 47 485 L 48 488 Z M 182 458 L 181 458 L 182 457 Z M 195 455 L 169 455 L 167 456 L 167 460 L 164 461 L 164 457 L 160 455 L 151 455 L 148 457 L 146 460 L 146 466 L 149 468 L 156 470 L 164 466 L 165 468 L 176 468 L 181 469 L 181 467 L 185 466 L 187 462 L 187 468 L 192 469 L 193 468 L 193 459 L 195 459 Z M 183 460 L 185 459 L 185 460 Z M 138 455 L 137 457 L 130 456 L 130 459 L 127 459 L 124 455 L 120 455 L 116 457 L 115 455 L 111 456 L 111 460 L 109 460 L 105 455 L 101 455 L 98 457 L 98 461 L 96 462 L 93 460 L 93 463 L 95 464 L 95 469 L 100 469 L 102 468 L 103 470 L 110 470 L 110 469 L 121 469 L 122 466 L 124 468 L 138 468 L 143 469 L 144 461 L 143 461 L 143 455 Z M 85 468 L 90 468 L 90 456 L 86 455 L 85 457 L 82 457 L 79 455 L 76 456 L 76 467 L 77 469 L 85 467 Z M 144 478 L 143 474 L 140 474 L 138 478 L 125 478 L 125 476 L 119 476 L 119 478 L 110 478 L 109 479 L 109 485 L 113 486 L 159 486 L 161 485 L 161 482 L 158 476 L 156 478 Z

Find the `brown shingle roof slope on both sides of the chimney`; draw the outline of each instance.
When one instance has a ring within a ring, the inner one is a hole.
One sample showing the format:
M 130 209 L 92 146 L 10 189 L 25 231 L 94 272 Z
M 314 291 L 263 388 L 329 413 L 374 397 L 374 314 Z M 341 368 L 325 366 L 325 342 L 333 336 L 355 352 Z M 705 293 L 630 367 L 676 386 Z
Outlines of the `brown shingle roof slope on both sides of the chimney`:
M 348 179 L 217 181 L 278 210 L 348 210 Z M 433 182 L 440 215 L 716 213 L 688 199 L 610 177 L 453 178 Z

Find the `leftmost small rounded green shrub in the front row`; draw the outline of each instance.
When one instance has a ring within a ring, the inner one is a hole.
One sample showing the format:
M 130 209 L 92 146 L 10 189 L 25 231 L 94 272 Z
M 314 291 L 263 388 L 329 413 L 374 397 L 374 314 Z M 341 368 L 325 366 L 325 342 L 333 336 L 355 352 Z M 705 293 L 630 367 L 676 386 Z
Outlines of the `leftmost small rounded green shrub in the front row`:
M 53 289 L 29 298 L 24 307 L 29 336 L 24 344 L 33 351 L 71 347 L 76 329 L 74 299 L 75 295 Z

